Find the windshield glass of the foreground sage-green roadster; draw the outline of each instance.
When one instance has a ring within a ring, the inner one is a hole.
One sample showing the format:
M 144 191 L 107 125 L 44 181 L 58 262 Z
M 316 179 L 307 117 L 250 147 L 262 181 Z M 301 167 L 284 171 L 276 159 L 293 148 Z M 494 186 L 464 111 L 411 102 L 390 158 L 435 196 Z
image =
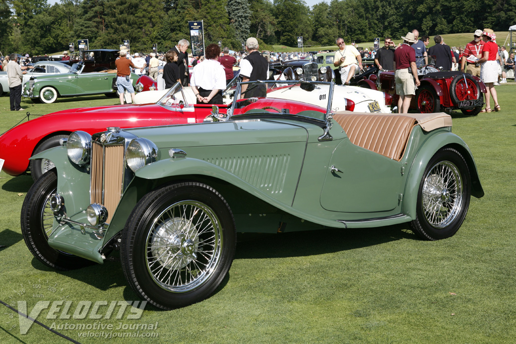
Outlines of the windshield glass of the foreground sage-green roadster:
M 282 116 L 326 122 L 333 83 L 314 81 L 251 81 L 239 83 L 230 117 Z M 235 118 L 236 119 L 236 118 Z

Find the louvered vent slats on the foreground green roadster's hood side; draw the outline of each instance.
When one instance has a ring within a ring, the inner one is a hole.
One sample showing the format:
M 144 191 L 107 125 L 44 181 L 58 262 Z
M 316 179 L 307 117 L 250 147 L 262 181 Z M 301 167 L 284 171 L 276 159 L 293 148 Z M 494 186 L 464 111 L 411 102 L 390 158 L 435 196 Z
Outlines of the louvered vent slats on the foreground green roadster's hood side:
M 239 156 L 204 159 L 228 170 L 265 193 L 280 193 L 285 186 L 289 155 Z

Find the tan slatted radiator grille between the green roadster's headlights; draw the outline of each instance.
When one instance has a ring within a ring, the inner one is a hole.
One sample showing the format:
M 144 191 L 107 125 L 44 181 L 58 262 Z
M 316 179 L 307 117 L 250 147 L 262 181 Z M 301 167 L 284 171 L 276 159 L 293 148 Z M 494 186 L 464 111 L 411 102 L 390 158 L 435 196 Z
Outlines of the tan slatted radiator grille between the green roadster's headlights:
M 90 201 L 106 207 L 108 223 L 122 196 L 123 175 L 124 145 L 92 142 Z

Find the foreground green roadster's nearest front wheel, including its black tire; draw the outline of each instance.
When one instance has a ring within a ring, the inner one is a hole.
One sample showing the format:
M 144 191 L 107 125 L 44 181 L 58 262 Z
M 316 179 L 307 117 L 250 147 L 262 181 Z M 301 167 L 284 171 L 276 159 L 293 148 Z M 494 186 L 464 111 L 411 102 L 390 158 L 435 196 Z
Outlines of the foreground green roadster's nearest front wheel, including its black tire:
M 141 298 L 172 309 L 217 289 L 235 244 L 233 214 L 222 196 L 202 183 L 175 183 L 138 202 L 122 235 L 120 258 L 127 282 Z

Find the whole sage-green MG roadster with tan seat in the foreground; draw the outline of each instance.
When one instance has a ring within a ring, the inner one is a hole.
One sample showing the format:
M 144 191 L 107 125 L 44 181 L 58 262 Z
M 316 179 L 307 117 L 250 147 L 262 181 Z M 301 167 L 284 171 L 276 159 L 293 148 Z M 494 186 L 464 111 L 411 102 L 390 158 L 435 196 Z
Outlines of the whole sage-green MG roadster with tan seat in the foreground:
M 328 105 L 250 98 L 227 115 L 214 106 L 206 123 L 78 131 L 33 156 L 56 169 L 23 203 L 27 247 L 58 270 L 119 257 L 133 290 L 171 309 L 216 290 L 236 232 L 411 222 L 421 238 L 444 239 L 461 226 L 470 196 L 483 196 L 447 114 L 335 113 L 333 84 L 280 83 L 301 84 L 307 100 Z M 181 111 L 184 99 L 161 106 Z

